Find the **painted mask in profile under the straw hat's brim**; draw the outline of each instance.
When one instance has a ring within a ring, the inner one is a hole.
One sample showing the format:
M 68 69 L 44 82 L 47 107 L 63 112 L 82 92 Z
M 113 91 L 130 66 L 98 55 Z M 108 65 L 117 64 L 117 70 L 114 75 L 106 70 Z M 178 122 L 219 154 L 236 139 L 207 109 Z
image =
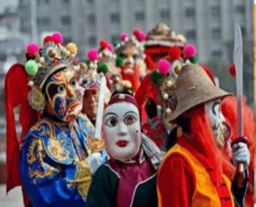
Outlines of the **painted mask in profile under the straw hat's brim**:
M 212 100 L 204 105 L 209 123 L 214 132 L 215 142 L 219 148 L 230 147 L 231 127 L 227 124 L 221 111 L 221 100 Z

